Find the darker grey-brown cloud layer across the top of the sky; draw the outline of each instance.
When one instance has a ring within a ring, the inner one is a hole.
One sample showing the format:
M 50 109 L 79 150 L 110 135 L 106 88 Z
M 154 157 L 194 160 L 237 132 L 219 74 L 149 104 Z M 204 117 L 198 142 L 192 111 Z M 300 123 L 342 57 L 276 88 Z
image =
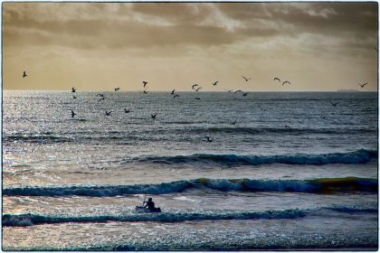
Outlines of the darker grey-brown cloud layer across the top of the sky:
M 375 42 L 376 3 L 4 3 L 5 47 L 221 45 L 312 33 Z M 360 45 L 359 45 L 360 46 Z

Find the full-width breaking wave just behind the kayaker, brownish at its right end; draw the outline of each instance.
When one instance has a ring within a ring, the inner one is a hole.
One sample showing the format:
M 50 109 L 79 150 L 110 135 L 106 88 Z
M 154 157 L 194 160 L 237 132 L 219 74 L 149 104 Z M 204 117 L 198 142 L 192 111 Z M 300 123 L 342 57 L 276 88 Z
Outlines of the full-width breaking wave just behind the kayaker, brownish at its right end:
M 229 192 L 309 192 L 334 194 L 336 192 L 377 192 L 377 180 L 370 178 L 320 178 L 314 180 L 252 180 L 207 179 L 183 180 L 171 183 L 115 186 L 66 186 L 5 188 L 5 196 L 90 196 L 112 197 L 127 194 L 166 194 L 187 190 L 212 189 Z

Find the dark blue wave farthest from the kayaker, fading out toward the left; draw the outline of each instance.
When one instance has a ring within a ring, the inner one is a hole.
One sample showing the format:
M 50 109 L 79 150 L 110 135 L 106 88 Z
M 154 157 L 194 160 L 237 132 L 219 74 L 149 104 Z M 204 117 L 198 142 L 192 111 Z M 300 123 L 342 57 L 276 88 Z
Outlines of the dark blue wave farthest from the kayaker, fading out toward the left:
M 175 156 L 142 156 L 128 159 L 144 163 L 183 164 L 183 163 L 218 163 L 227 165 L 260 165 L 260 164 L 366 164 L 377 158 L 377 151 L 359 149 L 347 153 L 320 155 L 175 155 Z

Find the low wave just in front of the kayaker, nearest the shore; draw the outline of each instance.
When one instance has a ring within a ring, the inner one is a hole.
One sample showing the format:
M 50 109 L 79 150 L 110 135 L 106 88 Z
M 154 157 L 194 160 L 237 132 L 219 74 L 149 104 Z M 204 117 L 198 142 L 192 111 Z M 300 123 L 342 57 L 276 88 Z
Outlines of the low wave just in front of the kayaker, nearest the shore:
M 124 215 L 83 216 L 83 217 L 55 217 L 39 214 L 4 214 L 3 226 L 26 227 L 38 224 L 52 224 L 64 222 L 107 222 L 107 221 L 160 221 L 180 222 L 187 220 L 252 220 L 252 219 L 296 219 L 304 217 L 305 212 L 296 210 L 285 211 L 174 211 L 160 213 L 135 213 L 128 211 Z

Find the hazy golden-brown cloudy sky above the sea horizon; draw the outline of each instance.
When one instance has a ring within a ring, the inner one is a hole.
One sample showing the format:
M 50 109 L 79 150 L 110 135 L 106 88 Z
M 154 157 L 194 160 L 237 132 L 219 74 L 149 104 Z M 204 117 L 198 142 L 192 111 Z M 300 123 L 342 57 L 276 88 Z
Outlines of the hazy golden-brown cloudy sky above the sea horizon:
M 375 2 L 3 2 L 2 25 L 3 89 L 377 90 Z

